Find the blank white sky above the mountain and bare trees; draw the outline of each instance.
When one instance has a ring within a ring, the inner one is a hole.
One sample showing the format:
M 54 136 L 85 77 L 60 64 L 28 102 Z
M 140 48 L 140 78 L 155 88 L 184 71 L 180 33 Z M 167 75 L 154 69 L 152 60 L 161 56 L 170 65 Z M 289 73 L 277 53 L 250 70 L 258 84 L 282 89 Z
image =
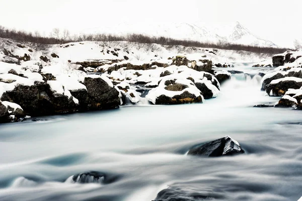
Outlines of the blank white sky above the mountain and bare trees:
M 121 22 L 239 21 L 280 46 L 302 39 L 302 0 L 0 0 L 0 25 L 48 34 Z

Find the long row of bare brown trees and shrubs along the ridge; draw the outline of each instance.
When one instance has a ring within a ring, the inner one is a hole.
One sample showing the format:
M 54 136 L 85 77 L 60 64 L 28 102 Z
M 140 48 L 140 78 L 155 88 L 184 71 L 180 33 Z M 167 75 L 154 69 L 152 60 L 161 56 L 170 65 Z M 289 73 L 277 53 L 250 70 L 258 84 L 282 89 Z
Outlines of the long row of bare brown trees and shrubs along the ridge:
M 242 50 L 255 53 L 267 53 L 278 54 L 285 52 L 286 48 L 280 47 L 257 47 L 251 45 L 231 44 L 224 41 L 218 43 L 199 42 L 193 40 L 178 40 L 168 37 L 153 37 L 143 34 L 127 34 L 125 36 L 117 36 L 111 34 L 81 34 L 71 36 L 68 30 L 53 29 L 48 37 L 41 36 L 39 32 L 25 32 L 16 31 L 14 29 L 7 29 L 0 26 L 0 38 L 7 38 L 16 40 L 19 42 L 31 42 L 37 44 L 64 44 L 69 42 L 80 41 L 128 41 L 136 43 L 156 43 L 160 45 L 174 45 L 174 46 L 186 46 L 186 47 L 200 47 L 200 48 L 217 48 L 225 50 Z

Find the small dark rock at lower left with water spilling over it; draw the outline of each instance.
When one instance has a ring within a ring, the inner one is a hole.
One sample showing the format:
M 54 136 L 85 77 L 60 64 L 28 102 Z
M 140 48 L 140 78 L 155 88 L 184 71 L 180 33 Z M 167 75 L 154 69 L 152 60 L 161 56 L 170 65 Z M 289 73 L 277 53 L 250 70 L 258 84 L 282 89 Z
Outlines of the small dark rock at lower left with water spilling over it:
M 109 173 L 90 171 L 72 176 L 72 180 L 77 183 L 101 183 L 109 184 L 117 181 L 121 176 Z

